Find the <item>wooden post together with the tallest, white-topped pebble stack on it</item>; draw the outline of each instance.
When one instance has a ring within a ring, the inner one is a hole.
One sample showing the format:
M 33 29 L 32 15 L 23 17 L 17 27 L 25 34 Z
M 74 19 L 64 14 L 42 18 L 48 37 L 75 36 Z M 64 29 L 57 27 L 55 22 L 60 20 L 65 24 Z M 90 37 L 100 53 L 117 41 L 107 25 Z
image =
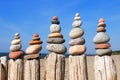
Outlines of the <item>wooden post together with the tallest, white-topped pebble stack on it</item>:
M 85 39 L 82 38 L 84 31 L 80 28 L 82 21 L 79 13 L 76 13 L 72 26 L 74 27 L 69 36 L 72 40 L 69 42 L 69 80 L 87 80 L 87 63 Z

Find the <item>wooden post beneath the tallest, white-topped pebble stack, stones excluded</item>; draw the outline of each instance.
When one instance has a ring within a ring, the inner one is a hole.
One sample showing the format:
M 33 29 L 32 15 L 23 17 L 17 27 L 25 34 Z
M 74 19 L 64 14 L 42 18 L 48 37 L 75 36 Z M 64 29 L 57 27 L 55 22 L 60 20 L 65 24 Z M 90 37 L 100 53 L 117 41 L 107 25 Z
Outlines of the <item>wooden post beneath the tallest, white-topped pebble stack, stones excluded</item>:
M 88 80 L 86 56 L 75 55 L 69 56 L 69 80 Z

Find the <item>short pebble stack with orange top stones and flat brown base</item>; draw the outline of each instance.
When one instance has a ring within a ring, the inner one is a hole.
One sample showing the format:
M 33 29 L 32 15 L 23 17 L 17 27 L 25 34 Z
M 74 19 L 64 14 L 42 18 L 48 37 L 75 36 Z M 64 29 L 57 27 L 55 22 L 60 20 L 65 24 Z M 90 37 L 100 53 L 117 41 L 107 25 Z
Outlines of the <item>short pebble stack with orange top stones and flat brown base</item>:
M 39 59 L 39 52 L 42 49 L 42 44 L 43 42 L 40 40 L 38 34 L 34 34 L 32 41 L 29 42 L 29 47 L 26 49 L 26 56 L 24 56 L 24 59 Z

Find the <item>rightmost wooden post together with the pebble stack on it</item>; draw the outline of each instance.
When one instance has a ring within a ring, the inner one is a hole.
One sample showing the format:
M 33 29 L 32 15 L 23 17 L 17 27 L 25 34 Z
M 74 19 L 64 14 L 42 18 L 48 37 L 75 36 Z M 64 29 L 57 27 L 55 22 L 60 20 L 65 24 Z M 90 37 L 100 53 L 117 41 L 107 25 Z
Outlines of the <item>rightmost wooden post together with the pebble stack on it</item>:
M 110 37 L 105 33 L 105 27 L 104 19 L 101 18 L 97 28 L 98 33 L 93 39 L 97 54 L 94 63 L 95 80 L 117 80 L 116 67 L 110 57 L 112 54 L 112 50 L 109 48 L 111 45 L 108 43 Z

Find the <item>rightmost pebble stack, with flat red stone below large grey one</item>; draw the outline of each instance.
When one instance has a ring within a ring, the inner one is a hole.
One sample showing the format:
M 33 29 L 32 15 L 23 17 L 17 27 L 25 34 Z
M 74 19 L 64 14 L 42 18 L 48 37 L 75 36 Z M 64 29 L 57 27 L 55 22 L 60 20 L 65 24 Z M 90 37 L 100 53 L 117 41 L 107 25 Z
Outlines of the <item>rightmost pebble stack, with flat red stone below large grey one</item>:
M 100 18 L 97 28 L 97 35 L 94 37 L 93 42 L 96 44 L 96 54 L 99 56 L 111 55 L 112 50 L 109 48 L 111 45 L 108 43 L 110 37 L 106 34 L 106 24 L 104 19 Z

